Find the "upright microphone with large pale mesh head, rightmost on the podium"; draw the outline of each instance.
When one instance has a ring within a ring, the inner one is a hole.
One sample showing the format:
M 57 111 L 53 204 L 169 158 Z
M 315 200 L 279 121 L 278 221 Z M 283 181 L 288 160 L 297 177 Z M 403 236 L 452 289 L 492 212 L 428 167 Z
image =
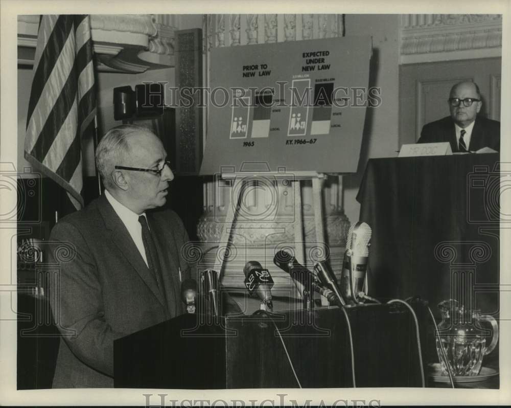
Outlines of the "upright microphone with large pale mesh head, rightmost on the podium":
M 351 303 L 360 303 L 358 293 L 363 292 L 367 272 L 367 258 L 371 240 L 371 228 L 365 222 L 350 226 L 346 240 L 346 252 L 341 275 L 341 293 Z

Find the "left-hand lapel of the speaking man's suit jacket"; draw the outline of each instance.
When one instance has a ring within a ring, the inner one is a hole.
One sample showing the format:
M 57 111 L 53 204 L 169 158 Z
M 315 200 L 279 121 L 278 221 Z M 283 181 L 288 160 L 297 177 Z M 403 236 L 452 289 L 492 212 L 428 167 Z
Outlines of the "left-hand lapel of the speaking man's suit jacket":
M 138 275 L 140 275 L 142 280 L 153 292 L 154 296 L 156 299 L 158 299 L 161 305 L 166 306 L 165 300 L 161 296 L 152 272 L 147 267 L 144 259 L 140 255 L 140 252 L 138 252 L 138 248 L 133 242 L 133 239 L 126 229 L 126 226 L 121 221 L 121 218 L 119 218 L 112 206 L 110 206 L 110 203 L 104 194 L 98 200 L 98 209 L 103 217 L 106 229 L 110 233 L 111 242 L 113 242 L 119 248 L 119 251 L 124 255 L 131 266 L 133 266 Z

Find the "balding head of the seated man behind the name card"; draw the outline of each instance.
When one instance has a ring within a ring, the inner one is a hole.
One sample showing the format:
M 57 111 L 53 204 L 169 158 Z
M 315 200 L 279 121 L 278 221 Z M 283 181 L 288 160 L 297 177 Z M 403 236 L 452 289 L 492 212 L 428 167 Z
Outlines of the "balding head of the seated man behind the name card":
M 462 102 L 466 99 L 472 99 L 470 106 L 465 106 Z M 458 104 L 458 106 L 454 106 Z M 466 128 L 476 120 L 477 114 L 481 110 L 481 93 L 475 82 L 464 81 L 455 84 L 449 94 L 449 109 L 451 118 L 459 127 Z

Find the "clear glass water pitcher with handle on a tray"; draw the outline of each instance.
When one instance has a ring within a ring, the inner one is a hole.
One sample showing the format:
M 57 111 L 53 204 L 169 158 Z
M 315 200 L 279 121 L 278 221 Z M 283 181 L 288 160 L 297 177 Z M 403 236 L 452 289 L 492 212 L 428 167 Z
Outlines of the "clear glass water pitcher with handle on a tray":
M 481 315 L 480 310 L 465 309 L 454 299 L 438 303 L 438 309 L 442 312 L 442 322 L 438 325 L 442 345 L 436 337 L 436 352 L 443 374 L 448 375 L 446 364 L 449 364 L 452 375 L 478 375 L 483 357 L 493 351 L 499 340 L 497 321 L 490 315 Z M 487 347 L 488 330 L 482 328 L 482 322 L 491 325 L 492 341 Z M 440 347 L 444 348 L 447 362 Z

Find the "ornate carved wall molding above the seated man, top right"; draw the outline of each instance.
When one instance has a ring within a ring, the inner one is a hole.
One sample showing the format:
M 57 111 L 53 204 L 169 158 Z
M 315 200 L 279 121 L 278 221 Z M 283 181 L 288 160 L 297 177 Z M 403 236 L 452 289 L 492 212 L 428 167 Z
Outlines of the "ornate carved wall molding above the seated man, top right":
M 400 34 L 401 63 L 496 57 L 502 53 L 501 14 L 404 14 Z

